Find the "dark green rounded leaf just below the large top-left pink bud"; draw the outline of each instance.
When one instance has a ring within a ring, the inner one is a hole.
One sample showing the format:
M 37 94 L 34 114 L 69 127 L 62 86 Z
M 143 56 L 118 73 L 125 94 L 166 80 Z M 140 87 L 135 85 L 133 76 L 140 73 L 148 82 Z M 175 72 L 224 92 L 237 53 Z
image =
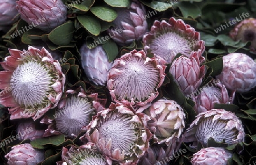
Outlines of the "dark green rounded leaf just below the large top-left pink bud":
M 48 38 L 56 45 L 68 45 L 73 39 L 74 32 L 75 27 L 73 22 L 67 22 L 53 29 L 53 31 L 49 33 Z

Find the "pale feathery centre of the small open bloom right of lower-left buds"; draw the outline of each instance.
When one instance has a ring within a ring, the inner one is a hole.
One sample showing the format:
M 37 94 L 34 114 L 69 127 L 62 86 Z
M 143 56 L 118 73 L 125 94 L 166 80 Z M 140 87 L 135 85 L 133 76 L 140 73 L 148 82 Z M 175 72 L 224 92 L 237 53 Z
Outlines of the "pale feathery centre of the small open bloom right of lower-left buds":
M 79 134 L 81 128 L 89 124 L 94 114 L 92 103 L 87 98 L 71 96 L 65 106 L 56 113 L 56 127 L 61 133 Z

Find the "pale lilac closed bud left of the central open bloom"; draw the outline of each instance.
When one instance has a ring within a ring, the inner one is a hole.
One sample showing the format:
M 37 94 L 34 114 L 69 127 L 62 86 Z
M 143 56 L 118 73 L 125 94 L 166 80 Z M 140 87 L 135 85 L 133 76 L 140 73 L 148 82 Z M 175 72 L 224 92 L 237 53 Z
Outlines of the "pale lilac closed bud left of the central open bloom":
M 108 72 L 112 66 L 108 56 L 101 45 L 89 49 L 86 44 L 80 48 L 82 69 L 89 79 L 96 85 L 104 86 Z

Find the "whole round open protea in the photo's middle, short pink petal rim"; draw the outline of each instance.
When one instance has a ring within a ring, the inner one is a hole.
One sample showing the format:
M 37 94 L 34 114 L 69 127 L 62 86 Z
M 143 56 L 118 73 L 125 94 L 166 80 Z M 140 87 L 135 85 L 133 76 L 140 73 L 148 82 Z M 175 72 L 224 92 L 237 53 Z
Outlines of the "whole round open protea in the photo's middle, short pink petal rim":
M 156 58 L 146 57 L 143 50 L 133 50 L 114 61 L 109 70 L 107 87 L 116 102 L 143 106 L 158 96 L 166 66 Z

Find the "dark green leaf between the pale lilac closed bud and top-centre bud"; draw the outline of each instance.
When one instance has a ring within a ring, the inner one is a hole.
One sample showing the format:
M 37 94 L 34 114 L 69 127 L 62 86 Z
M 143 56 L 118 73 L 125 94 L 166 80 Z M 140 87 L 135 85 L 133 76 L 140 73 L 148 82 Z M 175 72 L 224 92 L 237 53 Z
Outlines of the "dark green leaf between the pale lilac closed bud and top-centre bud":
M 110 62 L 114 61 L 115 57 L 118 55 L 118 46 L 113 40 L 109 40 L 108 43 L 102 45 L 103 49 L 108 55 Z

